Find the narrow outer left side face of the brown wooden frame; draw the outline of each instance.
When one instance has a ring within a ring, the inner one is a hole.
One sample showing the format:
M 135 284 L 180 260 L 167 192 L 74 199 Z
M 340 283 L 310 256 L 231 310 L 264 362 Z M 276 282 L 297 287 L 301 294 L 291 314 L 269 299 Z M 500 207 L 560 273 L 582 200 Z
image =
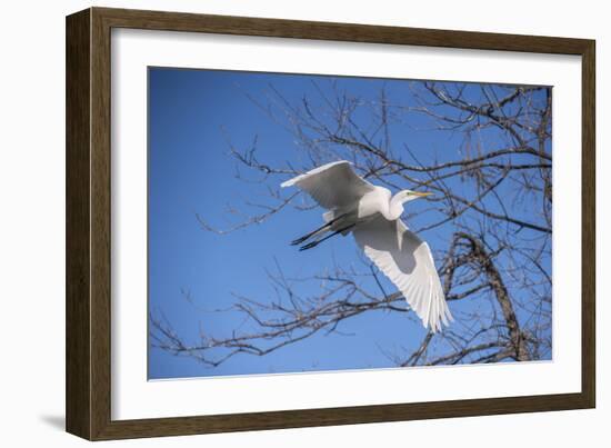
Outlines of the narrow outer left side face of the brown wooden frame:
M 90 11 L 66 23 L 66 429 L 90 438 Z

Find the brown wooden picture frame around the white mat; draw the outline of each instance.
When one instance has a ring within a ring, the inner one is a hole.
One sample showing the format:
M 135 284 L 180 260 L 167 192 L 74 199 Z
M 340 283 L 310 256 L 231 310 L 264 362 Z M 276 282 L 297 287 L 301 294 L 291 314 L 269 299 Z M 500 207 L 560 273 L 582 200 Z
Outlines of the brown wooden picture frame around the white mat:
M 110 32 L 191 31 L 582 58 L 581 392 L 232 415 L 111 419 Z M 67 430 L 89 440 L 593 408 L 593 40 L 90 8 L 67 18 Z

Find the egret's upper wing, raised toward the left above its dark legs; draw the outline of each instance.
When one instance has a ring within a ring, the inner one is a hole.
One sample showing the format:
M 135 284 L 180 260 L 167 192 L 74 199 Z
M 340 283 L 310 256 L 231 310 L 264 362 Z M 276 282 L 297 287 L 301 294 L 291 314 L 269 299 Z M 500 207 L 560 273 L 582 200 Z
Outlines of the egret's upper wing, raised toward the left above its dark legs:
M 357 203 L 374 187 L 361 179 L 349 161 L 341 160 L 297 176 L 281 187 L 297 186 L 308 192 L 321 207 L 333 209 Z

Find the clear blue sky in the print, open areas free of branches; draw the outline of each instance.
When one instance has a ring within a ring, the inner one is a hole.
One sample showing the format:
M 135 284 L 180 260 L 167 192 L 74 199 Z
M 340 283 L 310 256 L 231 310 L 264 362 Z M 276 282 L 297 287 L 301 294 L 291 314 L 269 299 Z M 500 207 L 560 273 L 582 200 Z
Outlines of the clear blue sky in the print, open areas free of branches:
M 214 227 L 229 228 L 241 220 L 232 210 L 244 210 L 244 201 L 267 200 L 268 183 L 244 182 L 234 176 L 230 145 L 248 148 L 257 136 L 267 163 L 303 162 L 294 137 L 252 99 L 264 103 L 273 87 L 289 101 L 300 101 L 317 94 L 312 80 L 318 88 L 331 86 L 325 77 L 149 69 L 149 310 L 162 312 L 186 340 L 197 341 L 200 331 L 227 336 L 248 326 L 239 313 L 217 310 L 230 307 L 236 295 L 261 301 L 273 297 L 267 273 L 277 265 L 290 277 L 331 268 L 332 260 L 363 266 L 352 237 L 304 252 L 289 246 L 320 226 L 320 209 L 289 208 L 261 225 L 223 236 L 203 230 L 196 218 L 199 213 Z M 337 83 L 364 100 L 374 100 L 382 84 L 391 94 L 409 96 L 402 80 L 341 78 Z M 427 131 L 427 127 L 424 118 L 414 117 L 410 131 L 398 131 L 393 138 L 417 152 L 422 150 L 423 162 L 459 145 L 457 136 Z M 418 213 L 428 207 L 425 201 L 414 201 L 409 211 Z M 419 219 L 425 225 L 427 213 Z M 444 247 L 451 232 L 450 225 L 423 237 L 434 251 Z M 317 292 L 311 283 L 296 288 L 303 295 Z M 393 290 L 391 285 L 385 288 Z M 236 356 L 216 368 L 151 348 L 149 378 L 393 367 L 387 352 L 410 348 L 425 335 L 405 313 L 381 311 L 347 320 L 340 330 L 341 335 L 315 335 L 263 357 Z

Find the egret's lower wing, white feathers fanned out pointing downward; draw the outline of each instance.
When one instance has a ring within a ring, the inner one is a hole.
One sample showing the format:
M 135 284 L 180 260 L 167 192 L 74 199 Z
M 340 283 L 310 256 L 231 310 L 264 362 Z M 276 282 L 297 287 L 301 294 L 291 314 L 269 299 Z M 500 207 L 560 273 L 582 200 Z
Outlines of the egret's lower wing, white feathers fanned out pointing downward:
M 400 220 L 382 216 L 357 226 L 354 239 L 365 255 L 399 288 L 410 307 L 432 331 L 452 320 L 429 245 Z

